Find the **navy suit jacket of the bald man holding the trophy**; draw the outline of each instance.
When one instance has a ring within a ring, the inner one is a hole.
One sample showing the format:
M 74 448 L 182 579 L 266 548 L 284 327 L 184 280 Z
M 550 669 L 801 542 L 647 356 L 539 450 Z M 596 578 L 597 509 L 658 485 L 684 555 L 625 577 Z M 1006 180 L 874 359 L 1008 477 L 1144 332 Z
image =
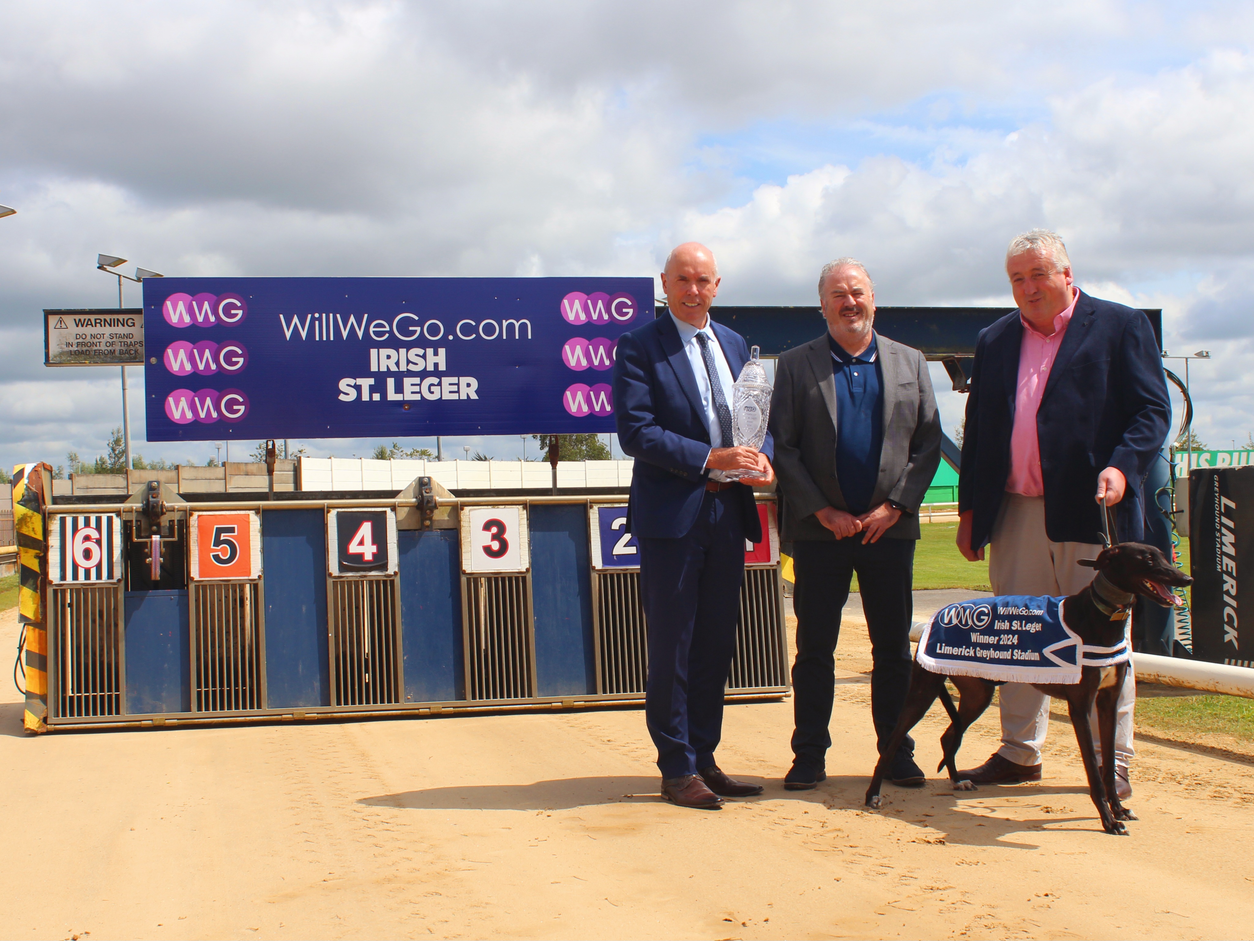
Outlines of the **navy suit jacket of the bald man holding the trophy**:
M 711 319 L 732 376 L 749 361 L 745 338 Z M 731 403 L 727 403 L 729 405 Z M 696 522 L 710 472 L 710 428 L 692 364 L 670 314 L 618 338 L 614 351 L 614 422 L 618 444 L 636 459 L 627 529 L 637 537 L 677 540 Z M 774 458 L 770 434 L 762 453 Z M 762 538 L 751 487 L 736 488 L 745 506 L 745 536 Z

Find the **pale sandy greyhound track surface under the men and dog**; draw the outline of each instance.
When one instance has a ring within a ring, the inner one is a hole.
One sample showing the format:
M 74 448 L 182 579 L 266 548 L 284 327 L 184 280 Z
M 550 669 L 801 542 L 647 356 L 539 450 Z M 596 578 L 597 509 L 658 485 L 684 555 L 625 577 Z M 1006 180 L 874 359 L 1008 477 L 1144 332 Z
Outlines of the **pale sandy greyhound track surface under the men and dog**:
M 717 813 L 651 795 L 635 709 L 28 738 L 6 681 L 0 933 L 1251 933 L 1254 767 L 1239 759 L 1140 743 L 1129 838 L 1101 832 L 1063 723 L 1041 785 L 954 794 L 937 778 L 861 809 L 874 745 L 858 635 L 841 641 L 833 777 L 782 790 L 791 703 L 729 706 L 721 763 L 767 790 Z M 4 612 L 0 651 L 14 640 Z M 918 733 L 928 770 L 942 726 L 937 713 Z M 963 755 L 994 747 L 986 719 Z

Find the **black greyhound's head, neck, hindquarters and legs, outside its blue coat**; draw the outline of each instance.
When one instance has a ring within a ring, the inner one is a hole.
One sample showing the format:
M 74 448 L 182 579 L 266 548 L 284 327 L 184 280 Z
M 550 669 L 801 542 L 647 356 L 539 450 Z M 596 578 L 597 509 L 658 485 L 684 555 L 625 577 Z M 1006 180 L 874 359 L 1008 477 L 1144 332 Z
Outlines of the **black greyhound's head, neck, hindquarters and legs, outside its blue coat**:
M 1067 625 L 1086 645 L 1101 647 L 1114 647 L 1124 640 L 1127 612 L 1136 595 L 1144 595 L 1157 605 L 1170 607 L 1181 603 L 1171 593 L 1170 587 L 1183 587 L 1193 582 L 1193 578 L 1167 562 L 1162 552 L 1140 542 L 1111 546 L 1102 550 L 1097 558 L 1085 560 L 1080 565 L 1092 566 L 1097 570 L 1097 575 L 1088 587 L 1062 602 L 1062 614 Z M 1067 700 L 1067 711 L 1076 730 L 1085 773 L 1088 775 L 1088 795 L 1101 816 L 1102 828 L 1107 833 L 1120 836 L 1127 834 L 1127 827 L 1122 822 L 1136 819 L 1132 812 L 1122 805 L 1115 792 L 1115 708 L 1126 674 L 1125 660 L 1115 666 L 1085 666 L 1081 670 L 1080 683 L 1076 684 L 1032 684 L 1055 699 Z M 957 708 L 946 689 L 946 680 L 958 689 Z M 949 769 L 954 790 L 974 790 L 976 785 L 969 780 L 958 779 L 954 757 L 962 745 L 963 733 L 992 701 L 993 688 L 993 683 L 977 676 L 944 676 L 932 673 L 915 660 L 902 716 L 893 729 L 892 738 L 880 752 L 875 774 L 870 787 L 867 788 L 867 807 L 880 805 L 879 788 L 893 755 L 897 754 L 909 730 L 927 715 L 937 698 L 940 699 L 951 719 L 949 728 L 940 735 L 944 758 L 940 759 L 937 770 Z M 1101 753 L 1105 758 L 1100 770 L 1092 729 L 1088 726 L 1088 715 L 1095 701 L 1101 731 Z

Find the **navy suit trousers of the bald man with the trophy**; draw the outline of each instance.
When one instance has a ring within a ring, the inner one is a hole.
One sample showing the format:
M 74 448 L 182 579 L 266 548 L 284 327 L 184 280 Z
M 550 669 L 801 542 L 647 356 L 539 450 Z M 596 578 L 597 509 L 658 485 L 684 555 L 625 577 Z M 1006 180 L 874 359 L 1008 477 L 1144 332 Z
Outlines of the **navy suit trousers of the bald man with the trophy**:
M 645 721 L 663 778 L 715 764 L 745 580 L 744 517 L 735 488 L 707 491 L 687 534 L 640 540 Z

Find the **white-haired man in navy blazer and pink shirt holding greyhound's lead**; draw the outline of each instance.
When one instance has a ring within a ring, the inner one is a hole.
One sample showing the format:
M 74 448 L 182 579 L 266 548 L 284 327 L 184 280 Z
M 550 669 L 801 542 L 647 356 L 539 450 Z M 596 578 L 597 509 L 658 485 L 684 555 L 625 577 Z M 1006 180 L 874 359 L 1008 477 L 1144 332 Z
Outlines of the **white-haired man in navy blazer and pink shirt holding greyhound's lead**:
M 1035 228 L 1012 240 L 1006 272 L 1018 310 L 976 344 L 958 550 L 976 561 L 989 546 L 996 595 L 1072 595 L 1093 577 L 1077 563 L 1102 548 L 1100 504 L 1119 507 L 1120 540 L 1142 538 L 1141 484 L 1171 419 L 1161 354 L 1141 311 L 1075 287 L 1053 232 Z M 961 774 L 977 784 L 1040 780 L 1048 698 L 1008 683 L 999 699 L 1001 748 Z M 1135 703 L 1129 670 L 1115 734 L 1121 798 L 1132 793 Z

